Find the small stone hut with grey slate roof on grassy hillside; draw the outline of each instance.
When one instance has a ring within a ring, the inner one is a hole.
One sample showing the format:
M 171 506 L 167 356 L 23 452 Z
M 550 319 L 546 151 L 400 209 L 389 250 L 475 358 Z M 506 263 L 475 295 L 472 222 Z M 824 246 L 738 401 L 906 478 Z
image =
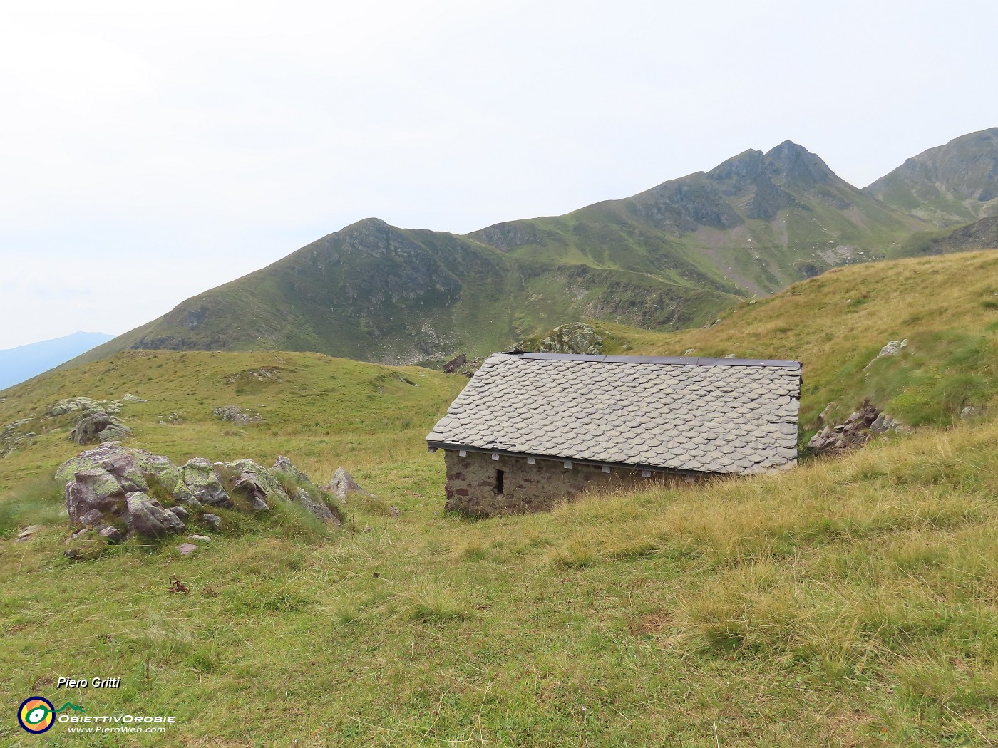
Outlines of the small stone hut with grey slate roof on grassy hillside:
M 558 353 L 490 356 L 426 437 L 446 509 L 537 512 L 605 485 L 788 470 L 800 364 Z

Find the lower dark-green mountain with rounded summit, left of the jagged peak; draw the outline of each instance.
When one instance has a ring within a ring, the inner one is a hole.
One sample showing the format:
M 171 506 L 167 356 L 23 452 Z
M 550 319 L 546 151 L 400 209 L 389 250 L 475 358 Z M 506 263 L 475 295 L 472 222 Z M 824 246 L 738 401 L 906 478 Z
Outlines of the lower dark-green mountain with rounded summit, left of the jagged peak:
M 392 249 L 383 251 L 388 242 Z M 70 365 L 128 348 L 315 351 L 412 363 L 458 350 L 486 354 L 566 318 L 682 327 L 739 298 L 718 273 L 695 281 L 645 269 L 515 257 L 444 232 L 360 221 Z

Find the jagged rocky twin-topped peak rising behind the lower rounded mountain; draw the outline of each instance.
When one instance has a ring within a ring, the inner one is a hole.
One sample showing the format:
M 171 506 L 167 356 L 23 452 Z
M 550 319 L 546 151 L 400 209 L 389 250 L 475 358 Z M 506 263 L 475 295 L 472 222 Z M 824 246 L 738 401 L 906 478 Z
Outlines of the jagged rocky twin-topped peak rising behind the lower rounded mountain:
M 696 267 L 743 293 L 769 294 L 835 265 L 886 256 L 892 242 L 926 227 L 786 141 L 633 197 L 498 223 L 469 236 L 561 262 L 638 269 L 652 259 L 658 260 L 653 272 L 681 275 Z

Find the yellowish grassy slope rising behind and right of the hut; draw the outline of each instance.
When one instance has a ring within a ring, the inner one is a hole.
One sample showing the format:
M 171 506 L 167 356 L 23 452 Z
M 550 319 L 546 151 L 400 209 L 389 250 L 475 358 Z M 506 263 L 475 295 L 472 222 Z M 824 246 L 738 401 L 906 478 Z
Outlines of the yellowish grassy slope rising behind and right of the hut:
M 945 426 L 998 391 L 998 253 L 994 250 L 835 268 L 710 328 L 655 333 L 601 323 L 608 352 L 795 359 L 803 363 L 804 438 L 830 403 L 834 420 L 871 397 L 912 425 Z M 888 340 L 896 357 L 865 368 Z M 625 348 L 626 346 L 626 348 Z

